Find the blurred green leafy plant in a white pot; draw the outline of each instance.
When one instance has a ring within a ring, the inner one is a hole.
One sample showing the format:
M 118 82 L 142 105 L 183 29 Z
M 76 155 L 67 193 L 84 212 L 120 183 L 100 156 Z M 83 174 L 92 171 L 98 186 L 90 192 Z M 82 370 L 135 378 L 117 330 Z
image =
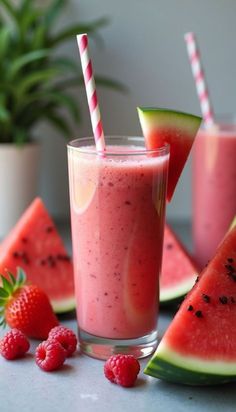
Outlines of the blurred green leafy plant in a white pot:
M 78 101 L 70 93 L 72 86 L 83 84 L 79 59 L 57 49 L 77 33 L 96 37 L 106 19 L 56 29 L 65 3 L 52 0 L 42 7 L 34 0 L 0 2 L 0 238 L 37 193 L 36 124 L 46 120 L 69 136 L 71 120 L 80 120 Z M 97 83 L 120 88 L 102 77 Z

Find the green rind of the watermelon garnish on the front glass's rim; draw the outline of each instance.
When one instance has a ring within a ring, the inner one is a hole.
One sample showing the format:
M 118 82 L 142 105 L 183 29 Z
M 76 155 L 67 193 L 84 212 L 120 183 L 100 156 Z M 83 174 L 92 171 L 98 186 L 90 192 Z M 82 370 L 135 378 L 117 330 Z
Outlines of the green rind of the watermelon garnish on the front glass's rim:
M 145 130 L 153 127 L 173 126 L 186 131 L 189 135 L 195 135 L 202 121 L 199 116 L 170 109 L 138 107 L 137 110 L 144 134 Z

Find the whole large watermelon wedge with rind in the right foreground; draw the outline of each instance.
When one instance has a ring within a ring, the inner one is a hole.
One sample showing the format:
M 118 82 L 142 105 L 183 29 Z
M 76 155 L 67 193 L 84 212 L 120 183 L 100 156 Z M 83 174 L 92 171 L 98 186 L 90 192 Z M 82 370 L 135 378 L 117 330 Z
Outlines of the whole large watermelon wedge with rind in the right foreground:
M 145 373 L 170 382 L 236 381 L 236 222 L 201 273 Z

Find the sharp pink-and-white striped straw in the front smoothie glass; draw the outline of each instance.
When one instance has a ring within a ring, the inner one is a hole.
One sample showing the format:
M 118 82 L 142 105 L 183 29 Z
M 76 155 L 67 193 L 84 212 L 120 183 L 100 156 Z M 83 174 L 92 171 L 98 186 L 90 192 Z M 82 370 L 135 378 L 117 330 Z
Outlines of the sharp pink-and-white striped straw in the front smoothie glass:
M 77 35 L 82 71 L 84 76 L 85 89 L 88 99 L 93 134 L 96 149 L 99 152 L 106 150 L 104 132 L 101 121 L 101 114 L 98 104 L 96 85 L 93 76 L 92 62 L 88 52 L 88 36 L 86 33 Z

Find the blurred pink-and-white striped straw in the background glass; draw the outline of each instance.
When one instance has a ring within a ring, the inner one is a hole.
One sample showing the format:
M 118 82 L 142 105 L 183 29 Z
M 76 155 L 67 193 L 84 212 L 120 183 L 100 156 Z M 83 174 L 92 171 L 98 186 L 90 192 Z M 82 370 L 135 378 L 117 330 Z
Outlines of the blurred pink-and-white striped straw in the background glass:
M 197 47 L 197 41 L 194 33 L 184 35 L 189 61 L 192 67 L 192 73 L 195 80 L 197 94 L 201 106 L 202 116 L 207 126 L 214 123 L 213 109 L 207 89 L 206 78 L 201 64 L 200 52 Z

